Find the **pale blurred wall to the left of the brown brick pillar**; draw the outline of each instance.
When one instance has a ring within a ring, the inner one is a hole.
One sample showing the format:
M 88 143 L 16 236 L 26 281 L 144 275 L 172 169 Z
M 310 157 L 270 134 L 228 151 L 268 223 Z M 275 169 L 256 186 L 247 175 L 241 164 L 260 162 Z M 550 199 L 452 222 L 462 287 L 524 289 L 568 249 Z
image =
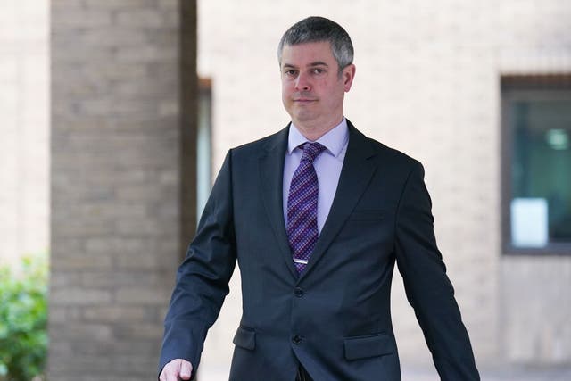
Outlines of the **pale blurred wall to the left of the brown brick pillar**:
M 48 246 L 48 2 L 0 2 L 0 264 Z

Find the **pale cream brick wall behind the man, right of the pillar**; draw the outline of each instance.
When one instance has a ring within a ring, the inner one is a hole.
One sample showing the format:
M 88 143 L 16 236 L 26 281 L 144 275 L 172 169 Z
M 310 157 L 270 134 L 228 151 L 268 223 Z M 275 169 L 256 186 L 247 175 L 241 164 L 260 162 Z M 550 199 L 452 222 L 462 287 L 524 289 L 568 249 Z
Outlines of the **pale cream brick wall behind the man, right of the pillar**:
M 559 324 L 571 317 L 571 307 L 563 294 L 553 294 L 555 285 L 567 286 L 571 258 L 501 256 L 499 93 L 503 73 L 571 70 L 568 2 L 300 0 L 277 7 L 203 0 L 199 14 L 198 71 L 213 84 L 215 169 L 229 147 L 288 122 L 276 60 L 285 29 L 313 14 L 340 22 L 352 36 L 357 65 L 345 115 L 369 136 L 425 164 L 437 238 L 478 362 L 571 362 L 571 336 Z M 538 261 L 550 286 L 544 277 L 528 278 Z M 401 277 L 394 281 L 402 363 L 427 364 L 430 354 Z M 526 282 L 538 290 L 533 306 L 517 291 Z M 238 285 L 236 271 L 207 339 L 203 370 L 228 364 L 240 318 Z M 542 292 L 550 297 L 541 298 Z M 564 311 L 537 318 L 538 311 L 561 306 Z M 559 329 L 549 329 L 553 322 Z M 558 333 L 562 338 L 555 340 Z M 552 339 L 542 345 L 551 345 L 549 351 L 537 345 L 547 334 Z M 525 335 L 534 340 L 517 339 Z

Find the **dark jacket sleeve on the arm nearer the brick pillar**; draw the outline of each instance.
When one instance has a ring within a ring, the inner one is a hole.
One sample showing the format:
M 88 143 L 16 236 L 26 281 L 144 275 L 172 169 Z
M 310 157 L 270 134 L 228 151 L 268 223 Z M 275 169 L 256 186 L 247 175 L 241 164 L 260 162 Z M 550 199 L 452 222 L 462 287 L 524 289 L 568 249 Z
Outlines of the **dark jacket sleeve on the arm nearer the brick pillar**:
M 219 171 L 186 259 L 178 268 L 164 321 L 159 373 L 170 360 L 185 359 L 192 363 L 194 377 L 206 333 L 229 291 L 236 266 L 231 154 Z

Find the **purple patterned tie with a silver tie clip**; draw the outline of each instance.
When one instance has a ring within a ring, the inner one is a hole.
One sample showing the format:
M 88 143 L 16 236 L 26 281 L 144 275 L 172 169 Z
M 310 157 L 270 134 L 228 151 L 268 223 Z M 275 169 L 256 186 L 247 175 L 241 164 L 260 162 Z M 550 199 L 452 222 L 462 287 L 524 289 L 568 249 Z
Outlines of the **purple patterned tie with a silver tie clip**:
M 318 240 L 318 175 L 313 161 L 326 147 L 303 144 L 302 161 L 294 172 L 287 197 L 287 236 L 294 265 L 302 273 Z

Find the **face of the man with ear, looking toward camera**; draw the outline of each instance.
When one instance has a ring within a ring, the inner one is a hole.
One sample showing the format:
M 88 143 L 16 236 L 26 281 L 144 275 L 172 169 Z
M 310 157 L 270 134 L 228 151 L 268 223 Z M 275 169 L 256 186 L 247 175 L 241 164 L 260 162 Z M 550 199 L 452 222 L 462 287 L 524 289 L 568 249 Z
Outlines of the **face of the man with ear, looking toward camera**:
M 281 62 L 282 102 L 300 128 L 333 128 L 343 118 L 343 95 L 355 66 L 339 76 L 328 41 L 284 46 Z

